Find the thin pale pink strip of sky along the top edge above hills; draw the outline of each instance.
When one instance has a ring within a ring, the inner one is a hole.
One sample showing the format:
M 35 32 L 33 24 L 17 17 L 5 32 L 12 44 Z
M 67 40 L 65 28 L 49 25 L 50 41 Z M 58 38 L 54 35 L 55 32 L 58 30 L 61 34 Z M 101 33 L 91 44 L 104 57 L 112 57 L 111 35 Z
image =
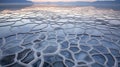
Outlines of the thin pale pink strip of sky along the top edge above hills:
M 83 1 L 83 2 L 94 2 L 94 1 L 115 1 L 115 0 L 30 0 L 33 2 L 73 2 L 73 1 Z

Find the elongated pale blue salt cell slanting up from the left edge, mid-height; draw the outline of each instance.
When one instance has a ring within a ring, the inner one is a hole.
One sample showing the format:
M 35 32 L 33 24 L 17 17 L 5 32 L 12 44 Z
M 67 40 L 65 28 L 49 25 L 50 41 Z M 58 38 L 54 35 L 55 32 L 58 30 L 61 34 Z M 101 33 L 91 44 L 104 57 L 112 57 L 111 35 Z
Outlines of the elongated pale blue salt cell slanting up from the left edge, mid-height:
M 4 46 L 2 46 L 2 50 L 6 50 L 10 47 L 15 47 L 15 46 L 19 46 L 21 43 L 21 40 L 14 40 L 14 41 L 10 41 L 10 42 L 7 42 Z

